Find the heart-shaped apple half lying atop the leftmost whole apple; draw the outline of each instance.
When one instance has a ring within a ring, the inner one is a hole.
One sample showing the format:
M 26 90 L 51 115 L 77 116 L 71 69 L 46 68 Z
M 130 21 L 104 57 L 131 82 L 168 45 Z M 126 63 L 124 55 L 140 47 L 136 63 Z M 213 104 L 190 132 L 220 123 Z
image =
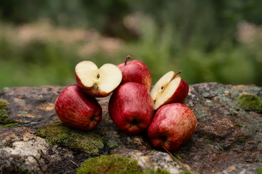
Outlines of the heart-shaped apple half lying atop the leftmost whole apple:
M 75 66 L 77 84 L 92 97 L 107 97 L 122 81 L 122 72 L 114 64 L 98 68 L 92 61 L 81 61 Z

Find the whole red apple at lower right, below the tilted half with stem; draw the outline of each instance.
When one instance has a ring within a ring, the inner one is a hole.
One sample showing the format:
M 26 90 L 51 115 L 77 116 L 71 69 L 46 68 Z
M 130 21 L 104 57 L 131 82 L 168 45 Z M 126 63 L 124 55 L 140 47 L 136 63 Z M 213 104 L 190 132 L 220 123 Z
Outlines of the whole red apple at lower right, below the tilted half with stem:
M 194 134 L 197 126 L 195 114 L 181 103 L 167 104 L 154 115 L 147 133 L 156 148 L 175 151 Z

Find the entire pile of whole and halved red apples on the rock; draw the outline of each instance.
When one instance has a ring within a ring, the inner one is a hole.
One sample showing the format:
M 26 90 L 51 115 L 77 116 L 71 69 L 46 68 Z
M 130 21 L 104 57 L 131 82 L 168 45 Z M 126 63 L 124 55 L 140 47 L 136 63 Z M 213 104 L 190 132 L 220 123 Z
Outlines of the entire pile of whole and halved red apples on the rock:
M 189 87 L 178 73 L 169 71 L 151 89 L 151 72 L 142 61 L 126 57 L 124 63 L 100 68 L 91 61 L 75 66 L 77 84 L 66 87 L 55 101 L 58 118 L 66 125 L 90 131 L 102 120 L 96 98 L 107 97 L 108 113 L 127 135 L 147 131 L 155 148 L 175 151 L 195 132 L 197 120 L 183 105 Z

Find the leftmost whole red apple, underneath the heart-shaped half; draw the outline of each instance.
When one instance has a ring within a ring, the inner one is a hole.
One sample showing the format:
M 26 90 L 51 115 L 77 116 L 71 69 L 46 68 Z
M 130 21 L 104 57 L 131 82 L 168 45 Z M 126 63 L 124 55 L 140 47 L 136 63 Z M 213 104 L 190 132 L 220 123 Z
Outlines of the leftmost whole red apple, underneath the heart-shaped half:
M 55 101 L 58 118 L 71 128 L 89 131 L 102 119 L 102 107 L 77 84 L 67 86 Z

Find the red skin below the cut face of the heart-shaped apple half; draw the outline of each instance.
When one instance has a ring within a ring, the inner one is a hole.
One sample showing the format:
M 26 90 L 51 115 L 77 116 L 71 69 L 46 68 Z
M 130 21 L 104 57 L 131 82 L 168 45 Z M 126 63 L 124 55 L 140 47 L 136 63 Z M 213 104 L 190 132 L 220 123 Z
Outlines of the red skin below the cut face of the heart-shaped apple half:
M 77 84 L 79 85 L 79 87 L 88 95 L 90 95 L 91 97 L 97 97 L 97 98 L 101 98 L 101 97 L 107 97 L 109 96 L 113 91 L 115 91 L 115 89 L 118 87 L 116 87 L 115 89 L 113 89 L 111 92 L 109 93 L 105 93 L 103 91 L 101 91 L 99 89 L 99 87 L 97 89 L 95 89 L 93 86 L 92 87 L 87 87 L 85 85 L 83 85 L 83 83 L 81 82 L 80 78 L 78 77 L 78 75 L 75 73 L 75 79 Z

